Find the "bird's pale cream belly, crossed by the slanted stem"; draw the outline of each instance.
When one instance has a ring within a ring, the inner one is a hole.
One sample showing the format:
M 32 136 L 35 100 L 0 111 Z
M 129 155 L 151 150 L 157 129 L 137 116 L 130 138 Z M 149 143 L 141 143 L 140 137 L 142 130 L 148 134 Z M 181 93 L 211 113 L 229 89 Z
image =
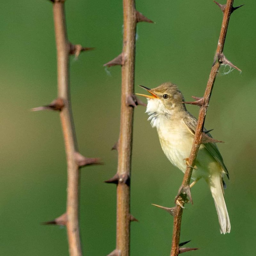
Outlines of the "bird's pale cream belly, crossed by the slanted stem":
M 193 144 L 193 136 L 179 127 L 174 130 L 157 130 L 161 147 L 169 161 L 182 172 L 186 171 L 186 158 L 189 157 Z M 220 164 L 211 156 L 208 150 L 201 145 L 196 158 L 197 170 L 193 170 L 192 179 L 208 179 L 213 173 L 222 172 Z

